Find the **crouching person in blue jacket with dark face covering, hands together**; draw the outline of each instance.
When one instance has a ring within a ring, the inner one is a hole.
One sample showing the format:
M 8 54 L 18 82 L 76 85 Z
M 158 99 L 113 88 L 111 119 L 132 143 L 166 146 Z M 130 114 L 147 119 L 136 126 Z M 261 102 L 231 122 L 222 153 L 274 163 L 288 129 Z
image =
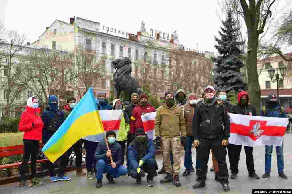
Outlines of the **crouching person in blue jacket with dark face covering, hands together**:
M 136 138 L 128 147 L 128 171 L 129 175 L 137 179 L 137 183 L 141 183 L 141 177 L 145 177 L 148 173 L 146 181 L 147 185 L 155 186 L 153 182 L 155 165 L 155 147 L 153 141 L 148 138 L 143 128 L 136 129 Z

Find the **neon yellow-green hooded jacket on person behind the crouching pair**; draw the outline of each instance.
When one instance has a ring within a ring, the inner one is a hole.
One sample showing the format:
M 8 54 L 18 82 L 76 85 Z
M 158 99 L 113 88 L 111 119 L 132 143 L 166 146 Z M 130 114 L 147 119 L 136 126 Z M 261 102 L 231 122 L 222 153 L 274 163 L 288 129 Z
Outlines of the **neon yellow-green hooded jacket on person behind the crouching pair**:
M 114 105 L 116 105 L 117 101 L 121 101 L 120 99 L 115 99 L 113 102 L 113 109 L 114 109 Z M 122 102 L 122 101 L 121 101 Z M 124 104 L 122 102 L 123 105 L 123 109 L 124 109 Z M 119 136 L 117 138 L 117 141 L 124 141 L 128 139 L 128 132 L 130 131 L 130 120 L 128 118 L 127 113 L 124 112 L 123 110 L 123 114 L 121 116 L 121 124 L 120 124 L 120 129 L 119 129 Z

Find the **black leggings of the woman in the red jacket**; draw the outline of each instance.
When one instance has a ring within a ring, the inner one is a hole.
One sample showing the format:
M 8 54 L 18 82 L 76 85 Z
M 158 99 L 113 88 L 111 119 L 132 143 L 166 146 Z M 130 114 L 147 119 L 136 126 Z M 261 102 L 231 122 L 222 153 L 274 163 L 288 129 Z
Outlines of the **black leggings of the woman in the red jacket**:
M 20 180 L 25 180 L 25 173 L 27 172 L 27 163 L 29 157 L 31 157 L 31 178 L 34 178 L 36 175 L 36 156 L 39 152 L 39 141 L 38 140 L 28 140 L 23 139 L 24 145 L 24 154 L 22 156 L 22 163 L 20 165 Z

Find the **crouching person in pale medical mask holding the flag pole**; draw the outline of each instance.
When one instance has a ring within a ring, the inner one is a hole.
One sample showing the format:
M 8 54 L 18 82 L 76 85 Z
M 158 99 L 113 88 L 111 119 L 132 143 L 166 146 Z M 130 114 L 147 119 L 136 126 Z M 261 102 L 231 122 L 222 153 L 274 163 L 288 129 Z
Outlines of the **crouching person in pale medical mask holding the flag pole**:
M 102 173 L 107 173 L 105 175 L 109 183 L 114 184 L 114 178 L 122 175 L 126 175 L 128 170 L 122 165 L 123 152 L 121 145 L 116 142 L 116 134 L 114 131 L 107 131 L 106 133 L 107 143 L 109 145 L 109 150 L 105 141 L 100 142 L 97 147 L 93 160 L 97 161 L 96 167 L 96 187 L 102 187 Z M 110 156 L 112 156 L 113 163 L 111 163 Z

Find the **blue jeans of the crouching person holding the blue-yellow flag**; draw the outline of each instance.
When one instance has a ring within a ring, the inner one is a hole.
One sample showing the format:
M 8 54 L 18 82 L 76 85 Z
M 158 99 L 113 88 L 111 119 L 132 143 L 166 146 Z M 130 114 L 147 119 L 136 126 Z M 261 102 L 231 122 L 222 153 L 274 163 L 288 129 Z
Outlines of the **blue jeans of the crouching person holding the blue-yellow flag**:
M 95 177 L 97 180 L 102 180 L 102 173 L 108 173 L 111 177 L 117 178 L 128 173 L 128 169 L 124 166 L 112 168 L 112 165 L 106 164 L 104 160 L 98 160 L 96 165 Z

